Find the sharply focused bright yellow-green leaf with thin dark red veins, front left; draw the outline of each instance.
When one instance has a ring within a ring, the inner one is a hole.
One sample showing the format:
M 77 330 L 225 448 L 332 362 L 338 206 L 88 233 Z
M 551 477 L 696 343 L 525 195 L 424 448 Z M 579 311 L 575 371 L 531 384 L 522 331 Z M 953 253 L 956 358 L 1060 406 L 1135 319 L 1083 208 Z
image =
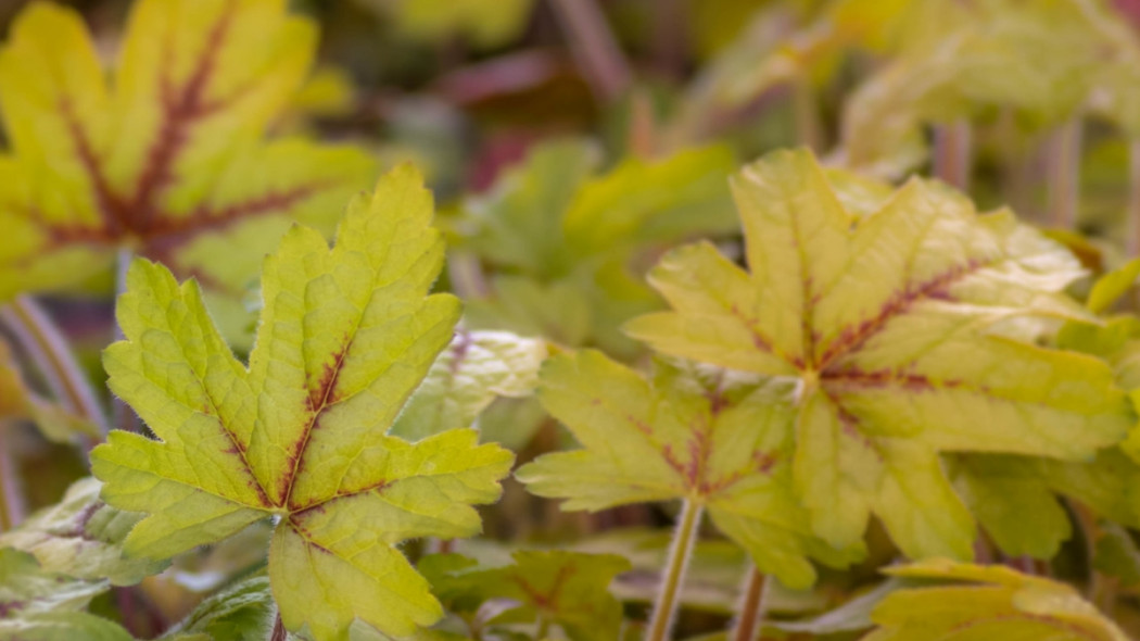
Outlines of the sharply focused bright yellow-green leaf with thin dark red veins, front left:
M 122 431 L 91 453 L 103 498 L 146 512 L 125 542 L 162 558 L 274 516 L 269 578 L 286 627 L 344 639 L 353 617 L 400 635 L 440 616 L 394 545 L 470 536 L 512 455 L 473 430 L 386 436 L 451 338 L 449 294 L 426 295 L 443 248 L 410 167 L 356 200 L 329 250 L 294 227 L 264 261 L 250 365 L 194 282 L 132 265 L 104 354 L 111 389 L 158 440 Z

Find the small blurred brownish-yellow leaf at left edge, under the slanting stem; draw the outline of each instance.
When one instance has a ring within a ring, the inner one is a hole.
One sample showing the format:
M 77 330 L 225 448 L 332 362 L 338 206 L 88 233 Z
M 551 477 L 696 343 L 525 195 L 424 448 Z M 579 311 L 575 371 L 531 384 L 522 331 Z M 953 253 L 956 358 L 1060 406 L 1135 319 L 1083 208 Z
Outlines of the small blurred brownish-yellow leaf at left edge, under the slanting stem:
M 0 339 L 0 417 L 28 419 L 43 436 L 68 441 L 79 435 L 98 438 L 99 428 L 63 406 L 51 403 L 24 382 L 8 342 Z

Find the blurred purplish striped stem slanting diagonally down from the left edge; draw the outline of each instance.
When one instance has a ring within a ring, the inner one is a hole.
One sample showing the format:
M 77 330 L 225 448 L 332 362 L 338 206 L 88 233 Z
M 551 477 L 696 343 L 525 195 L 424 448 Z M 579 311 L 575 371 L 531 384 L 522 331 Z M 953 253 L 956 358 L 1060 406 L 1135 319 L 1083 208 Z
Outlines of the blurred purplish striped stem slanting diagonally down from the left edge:
M 56 400 L 95 423 L 100 433 L 107 433 L 107 419 L 96 400 L 91 382 L 75 360 L 63 332 L 39 303 L 27 295 L 16 297 L 0 309 L 0 319 L 27 350 Z

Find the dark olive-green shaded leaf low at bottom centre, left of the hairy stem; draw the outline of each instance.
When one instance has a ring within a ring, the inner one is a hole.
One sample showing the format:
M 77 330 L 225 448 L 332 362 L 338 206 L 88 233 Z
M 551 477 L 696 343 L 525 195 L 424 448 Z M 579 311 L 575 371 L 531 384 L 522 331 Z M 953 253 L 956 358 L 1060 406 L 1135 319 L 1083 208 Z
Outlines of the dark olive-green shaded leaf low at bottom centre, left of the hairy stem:
M 450 609 L 469 616 L 487 611 L 483 626 L 557 625 L 573 641 L 608 641 L 621 630 L 621 603 L 609 591 L 613 578 L 630 568 L 616 554 L 523 550 L 514 563 L 480 568 L 458 554 L 427 557 L 421 569 Z M 506 600 L 500 608 L 486 608 Z M 477 612 L 478 610 L 478 612 Z

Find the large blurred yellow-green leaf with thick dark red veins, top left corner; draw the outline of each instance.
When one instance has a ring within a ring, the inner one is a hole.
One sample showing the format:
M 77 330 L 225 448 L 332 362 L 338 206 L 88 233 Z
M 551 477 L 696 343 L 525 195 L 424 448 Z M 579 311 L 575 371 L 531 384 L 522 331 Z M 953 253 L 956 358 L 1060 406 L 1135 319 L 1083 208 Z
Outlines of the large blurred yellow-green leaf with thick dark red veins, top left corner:
M 242 292 L 291 220 L 331 232 L 372 160 L 262 140 L 316 38 L 280 0 L 139 0 L 108 87 L 79 13 L 33 2 L 0 50 L 0 299 L 119 248 Z

